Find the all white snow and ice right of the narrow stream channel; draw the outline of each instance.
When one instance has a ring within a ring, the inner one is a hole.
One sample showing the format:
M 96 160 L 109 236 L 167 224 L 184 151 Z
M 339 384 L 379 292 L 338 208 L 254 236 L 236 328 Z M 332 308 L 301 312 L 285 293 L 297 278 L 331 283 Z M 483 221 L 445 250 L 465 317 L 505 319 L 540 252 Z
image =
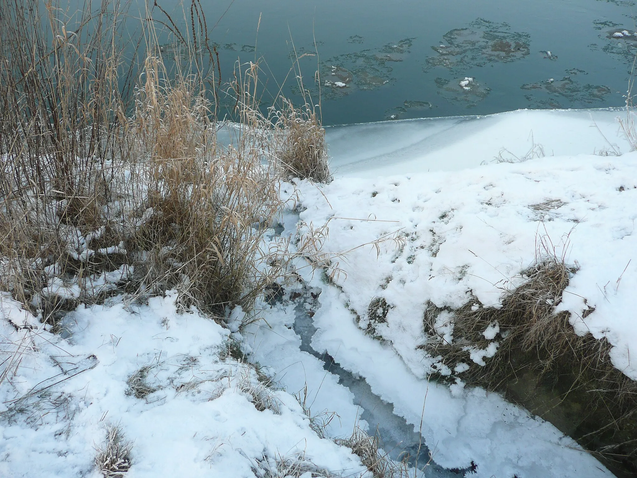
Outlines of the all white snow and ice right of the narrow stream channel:
M 471 300 L 497 307 L 505 291 L 524 282 L 527 266 L 554 254 L 578 268 L 557 310 L 569 312 L 578 335 L 608 340 L 613 365 L 637 379 L 637 153 L 628 152 L 618 115 L 625 112 L 513 112 L 334 128 L 336 179 L 320 191 L 300 185 L 307 208 L 301 219 L 314 228 L 328 222 L 324 250 L 351 251 L 333 261 L 342 292 L 326 287 L 320 297 L 317 350 L 366 377 L 417 425 L 426 377 L 441 372 L 440 358 L 422 345 L 431 333 L 454 338 L 446 312 L 435 331 L 425 330 L 426 308 L 451 310 Z M 531 132 L 546 157 L 494 161 L 508 152 L 525 156 Z M 445 135 L 455 141 L 441 140 Z M 388 235 L 400 243 L 355 249 Z M 473 362 L 456 371 L 494 356 L 497 324 L 492 329 L 485 330 L 492 347 L 474 351 Z M 429 384 L 423 433 L 441 465 L 474 460 L 481 476 L 608 475 L 550 424 L 463 386 Z

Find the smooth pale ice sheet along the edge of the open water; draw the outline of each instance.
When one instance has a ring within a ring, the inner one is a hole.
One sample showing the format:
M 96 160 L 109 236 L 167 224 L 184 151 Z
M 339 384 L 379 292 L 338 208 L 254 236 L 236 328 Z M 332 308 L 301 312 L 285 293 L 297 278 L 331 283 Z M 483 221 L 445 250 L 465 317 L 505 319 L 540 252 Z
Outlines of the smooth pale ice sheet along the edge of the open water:
M 499 155 L 546 156 L 629 152 L 621 109 L 518 110 L 489 116 L 431 118 L 326 128 L 337 176 L 377 177 L 419 171 L 458 171 Z

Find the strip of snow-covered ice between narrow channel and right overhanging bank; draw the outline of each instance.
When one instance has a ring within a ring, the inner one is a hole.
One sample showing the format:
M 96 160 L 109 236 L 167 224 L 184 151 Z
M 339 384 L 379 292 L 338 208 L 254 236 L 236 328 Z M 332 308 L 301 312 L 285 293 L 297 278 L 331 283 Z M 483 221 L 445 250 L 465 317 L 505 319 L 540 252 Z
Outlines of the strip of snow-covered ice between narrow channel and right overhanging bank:
M 469 467 L 473 461 L 477 469 L 470 476 L 476 478 L 610 475 L 571 438 L 501 396 L 482 389 L 467 389 L 458 396 L 447 386 L 415 377 L 392 347 L 357 328 L 344 305 L 349 299 L 333 287 L 324 289 L 313 346 L 364 376 L 373 392 L 393 403 L 394 412 L 417 430 L 422 417 L 422 434 L 436 463 Z

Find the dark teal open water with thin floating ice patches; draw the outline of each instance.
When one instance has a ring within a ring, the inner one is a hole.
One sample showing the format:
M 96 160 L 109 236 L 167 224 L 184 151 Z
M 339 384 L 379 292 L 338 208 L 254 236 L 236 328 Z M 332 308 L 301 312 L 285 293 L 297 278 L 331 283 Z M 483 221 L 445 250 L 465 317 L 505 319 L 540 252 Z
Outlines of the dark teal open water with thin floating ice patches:
M 178 0 L 159 3 L 183 18 Z M 294 96 L 292 59 L 318 51 L 300 64 L 314 103 L 319 66 L 325 124 L 621 106 L 637 52 L 637 7 L 628 0 L 201 4 L 209 29 L 217 24 L 210 41 L 224 80 L 237 59 L 261 58 L 268 92 L 275 95 L 287 76 L 283 93 Z

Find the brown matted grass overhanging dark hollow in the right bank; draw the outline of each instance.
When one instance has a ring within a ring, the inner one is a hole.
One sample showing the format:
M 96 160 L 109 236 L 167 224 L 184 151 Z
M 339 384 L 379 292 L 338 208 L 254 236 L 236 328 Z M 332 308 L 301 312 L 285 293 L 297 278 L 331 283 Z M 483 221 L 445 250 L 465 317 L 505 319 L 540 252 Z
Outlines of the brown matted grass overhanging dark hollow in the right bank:
M 536 413 L 556 417 L 555 424 L 566 426 L 564 431 L 610 467 L 634 472 L 637 382 L 613 366 L 606 340 L 576 335 L 569 313 L 554 312 L 575 272 L 562 259 L 547 257 L 524 271 L 525 282 L 505 293 L 501 307 L 477 300 L 457 310 L 430 304 L 423 348 L 440 358 L 443 379 L 459 377 L 533 405 Z M 441 333 L 443 312 L 452 314 L 451 341 Z M 475 363 L 490 346 L 497 346 L 496 354 L 482 356 L 484 365 Z M 457 369 L 458 364 L 468 366 Z

